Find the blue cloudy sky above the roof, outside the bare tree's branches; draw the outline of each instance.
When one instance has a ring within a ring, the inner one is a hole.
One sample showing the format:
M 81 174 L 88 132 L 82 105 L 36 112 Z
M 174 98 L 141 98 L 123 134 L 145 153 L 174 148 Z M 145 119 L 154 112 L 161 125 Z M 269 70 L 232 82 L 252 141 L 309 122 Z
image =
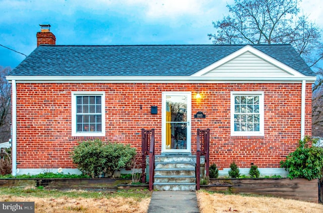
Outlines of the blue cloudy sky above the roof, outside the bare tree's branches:
M 323 28 L 321 0 L 301 8 Z M 0 44 L 29 55 L 39 24 L 50 24 L 56 44 L 211 44 L 212 21 L 228 15 L 234 0 L 0 0 Z M 0 66 L 25 56 L 0 46 Z

